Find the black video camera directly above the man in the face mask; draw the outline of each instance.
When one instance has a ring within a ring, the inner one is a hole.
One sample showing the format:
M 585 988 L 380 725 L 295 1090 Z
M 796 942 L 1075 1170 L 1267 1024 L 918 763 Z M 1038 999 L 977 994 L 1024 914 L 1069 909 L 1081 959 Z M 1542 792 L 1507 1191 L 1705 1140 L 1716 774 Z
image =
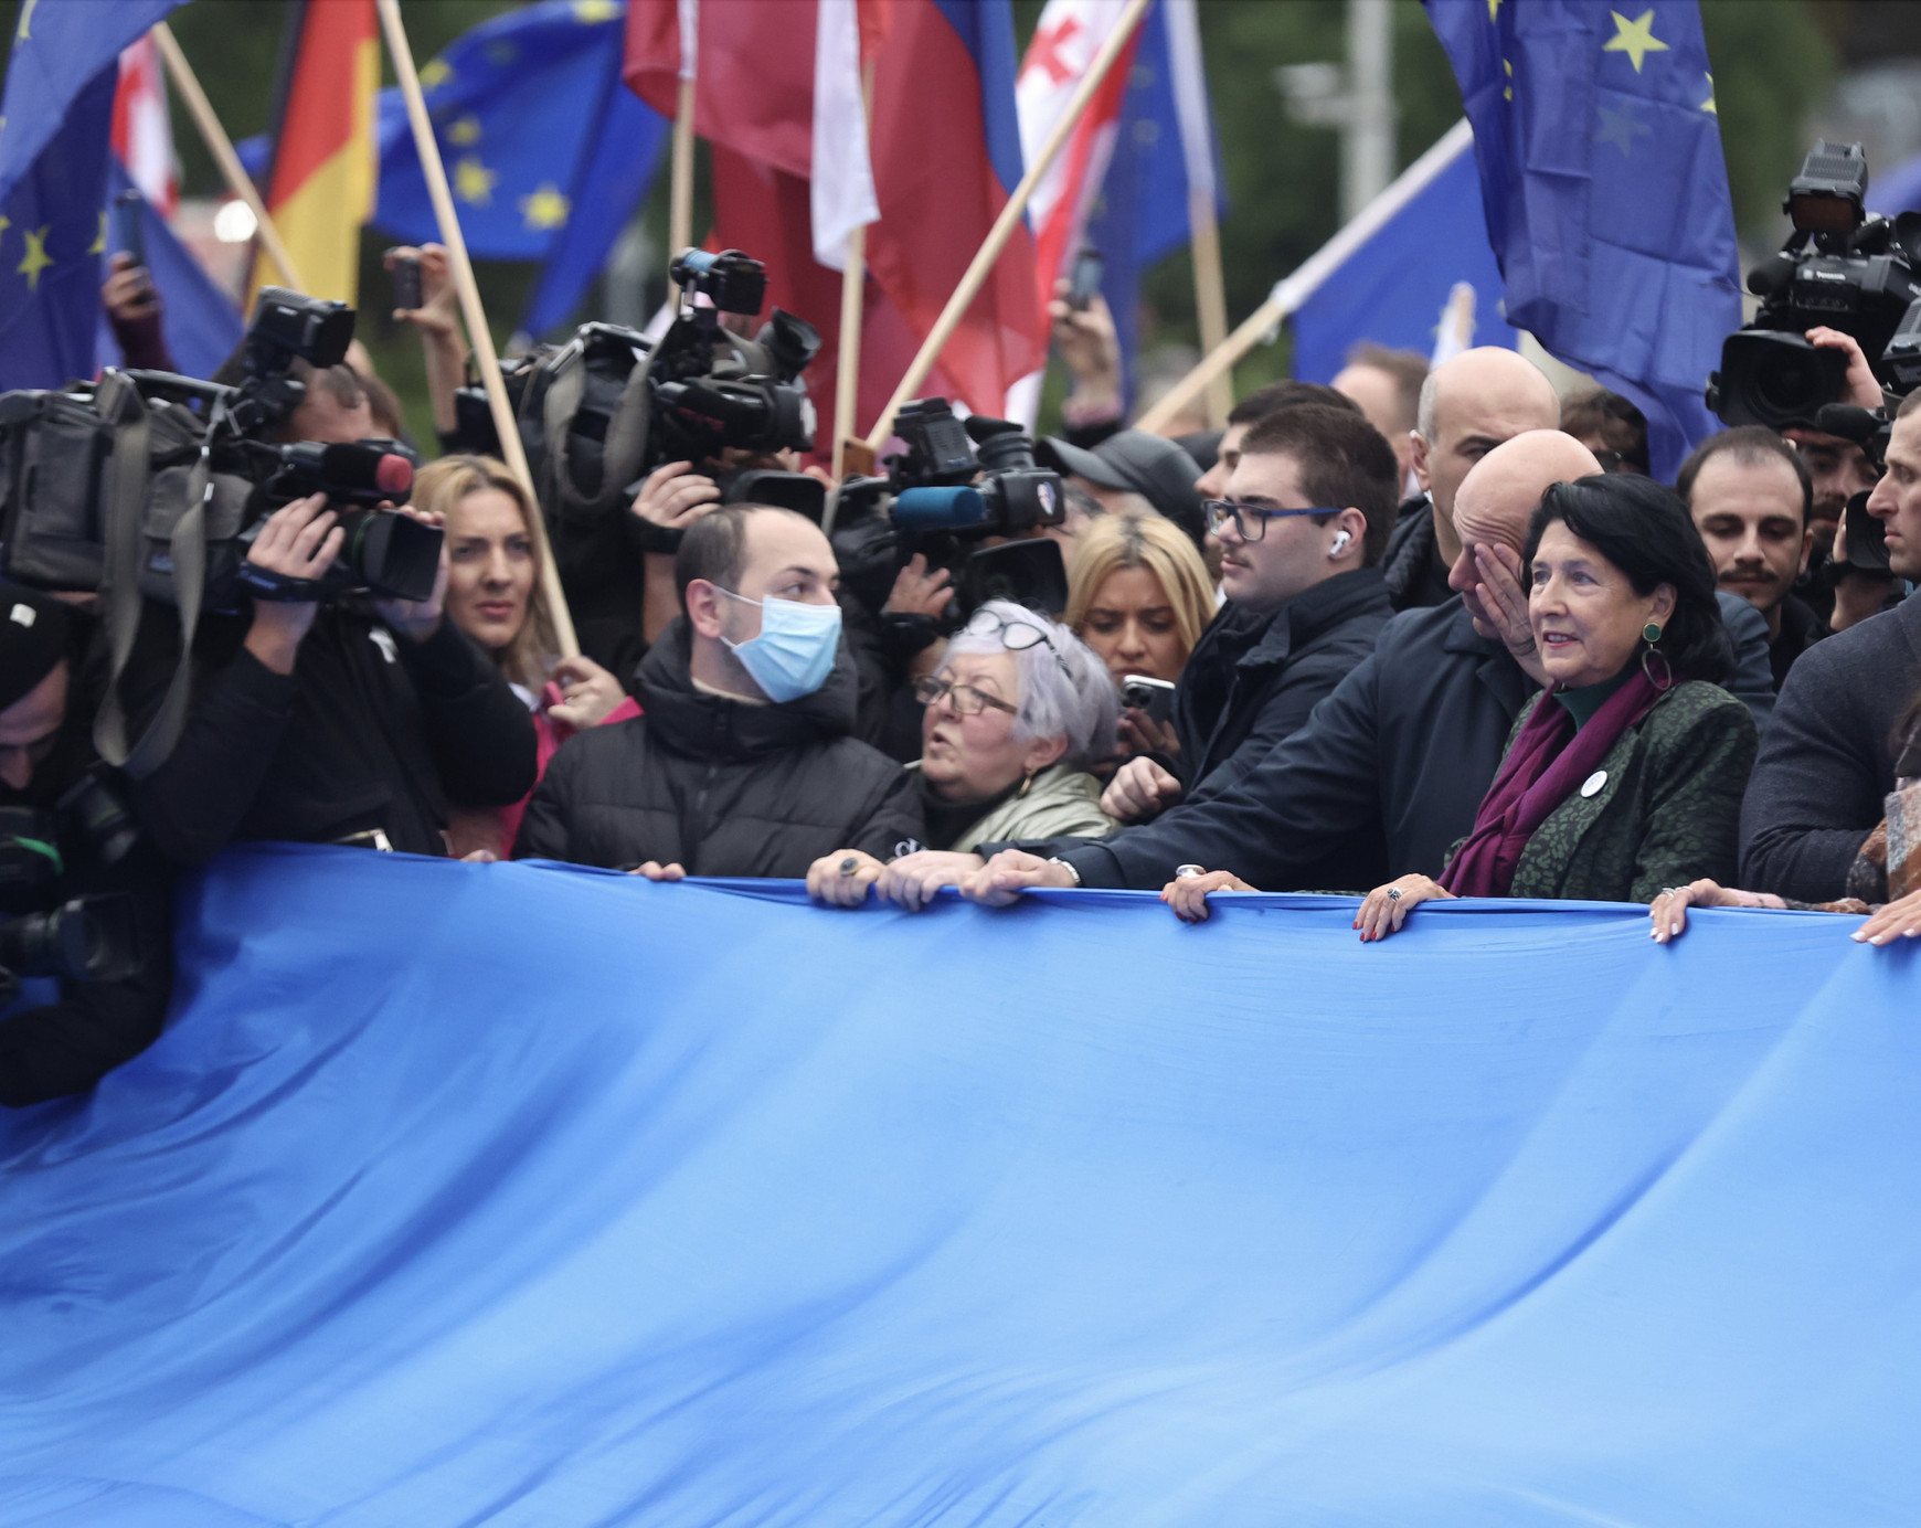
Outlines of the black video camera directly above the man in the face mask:
M 778 504 L 818 521 L 815 479 L 726 469 L 720 454 L 813 450 L 815 406 L 799 377 L 820 334 L 780 308 L 751 340 L 722 325 L 722 313 L 753 317 L 766 300 L 766 267 L 740 250 L 684 250 L 669 275 L 682 298 L 659 342 L 586 323 L 565 346 L 503 363 L 542 507 L 559 521 L 599 521 L 624 511 L 655 467 L 693 461 L 722 502 Z M 499 450 L 484 388 L 463 386 L 455 411 L 465 450 Z

